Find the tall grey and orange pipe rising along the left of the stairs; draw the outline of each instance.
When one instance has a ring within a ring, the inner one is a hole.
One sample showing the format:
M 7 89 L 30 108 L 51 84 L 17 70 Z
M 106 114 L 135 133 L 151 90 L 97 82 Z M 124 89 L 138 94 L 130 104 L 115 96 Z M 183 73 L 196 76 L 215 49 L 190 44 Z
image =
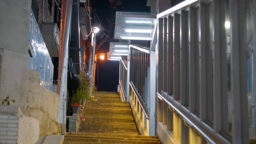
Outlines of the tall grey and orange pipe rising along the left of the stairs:
M 62 6 L 64 0 L 62 0 Z M 61 38 L 60 38 L 60 51 L 59 51 L 59 70 L 58 70 L 58 87 L 57 92 L 60 96 L 58 119 L 62 124 L 62 134 L 66 132 L 66 101 L 67 101 L 67 71 L 68 71 L 68 46 L 69 46 L 69 35 L 70 35 L 70 22 L 72 14 L 72 0 L 66 0 L 66 8 L 61 8 Z M 65 12 L 65 14 L 64 14 Z M 63 17 L 64 16 L 64 17 Z

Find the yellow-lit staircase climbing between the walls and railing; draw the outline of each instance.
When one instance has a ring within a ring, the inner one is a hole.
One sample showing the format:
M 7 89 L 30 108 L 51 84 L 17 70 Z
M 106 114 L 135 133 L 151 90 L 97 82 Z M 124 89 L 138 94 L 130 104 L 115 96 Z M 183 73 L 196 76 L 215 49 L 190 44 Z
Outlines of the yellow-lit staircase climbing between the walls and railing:
M 157 136 L 140 136 L 128 102 L 118 93 L 94 92 L 86 101 L 78 133 L 67 133 L 64 144 L 160 144 Z

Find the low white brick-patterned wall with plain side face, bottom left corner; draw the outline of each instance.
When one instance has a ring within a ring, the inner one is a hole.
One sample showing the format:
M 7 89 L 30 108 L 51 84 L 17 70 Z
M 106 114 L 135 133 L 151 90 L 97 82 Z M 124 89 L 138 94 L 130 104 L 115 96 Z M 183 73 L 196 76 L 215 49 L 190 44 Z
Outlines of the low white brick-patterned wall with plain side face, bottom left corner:
M 1 144 L 35 144 L 38 138 L 38 120 L 23 116 L 18 106 L 0 106 Z

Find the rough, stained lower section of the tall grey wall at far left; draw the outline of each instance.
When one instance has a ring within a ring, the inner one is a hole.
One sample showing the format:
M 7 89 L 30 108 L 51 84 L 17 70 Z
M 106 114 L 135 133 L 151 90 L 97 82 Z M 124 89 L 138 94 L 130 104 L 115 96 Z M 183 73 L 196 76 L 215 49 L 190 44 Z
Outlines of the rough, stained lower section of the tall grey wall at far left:
M 1 50 L 1 48 L 0 48 Z M 7 96 L 16 100 L 10 105 L 20 106 L 26 115 L 29 57 L 25 54 L 2 49 L 0 69 L 0 102 Z

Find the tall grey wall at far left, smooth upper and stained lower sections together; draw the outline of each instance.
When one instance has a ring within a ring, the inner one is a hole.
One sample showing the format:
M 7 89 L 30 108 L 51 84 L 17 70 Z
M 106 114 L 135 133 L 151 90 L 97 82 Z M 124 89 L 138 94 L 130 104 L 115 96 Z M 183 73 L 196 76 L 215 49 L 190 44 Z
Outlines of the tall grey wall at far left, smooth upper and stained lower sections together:
M 10 96 L 26 114 L 31 0 L 0 0 L 0 100 Z

